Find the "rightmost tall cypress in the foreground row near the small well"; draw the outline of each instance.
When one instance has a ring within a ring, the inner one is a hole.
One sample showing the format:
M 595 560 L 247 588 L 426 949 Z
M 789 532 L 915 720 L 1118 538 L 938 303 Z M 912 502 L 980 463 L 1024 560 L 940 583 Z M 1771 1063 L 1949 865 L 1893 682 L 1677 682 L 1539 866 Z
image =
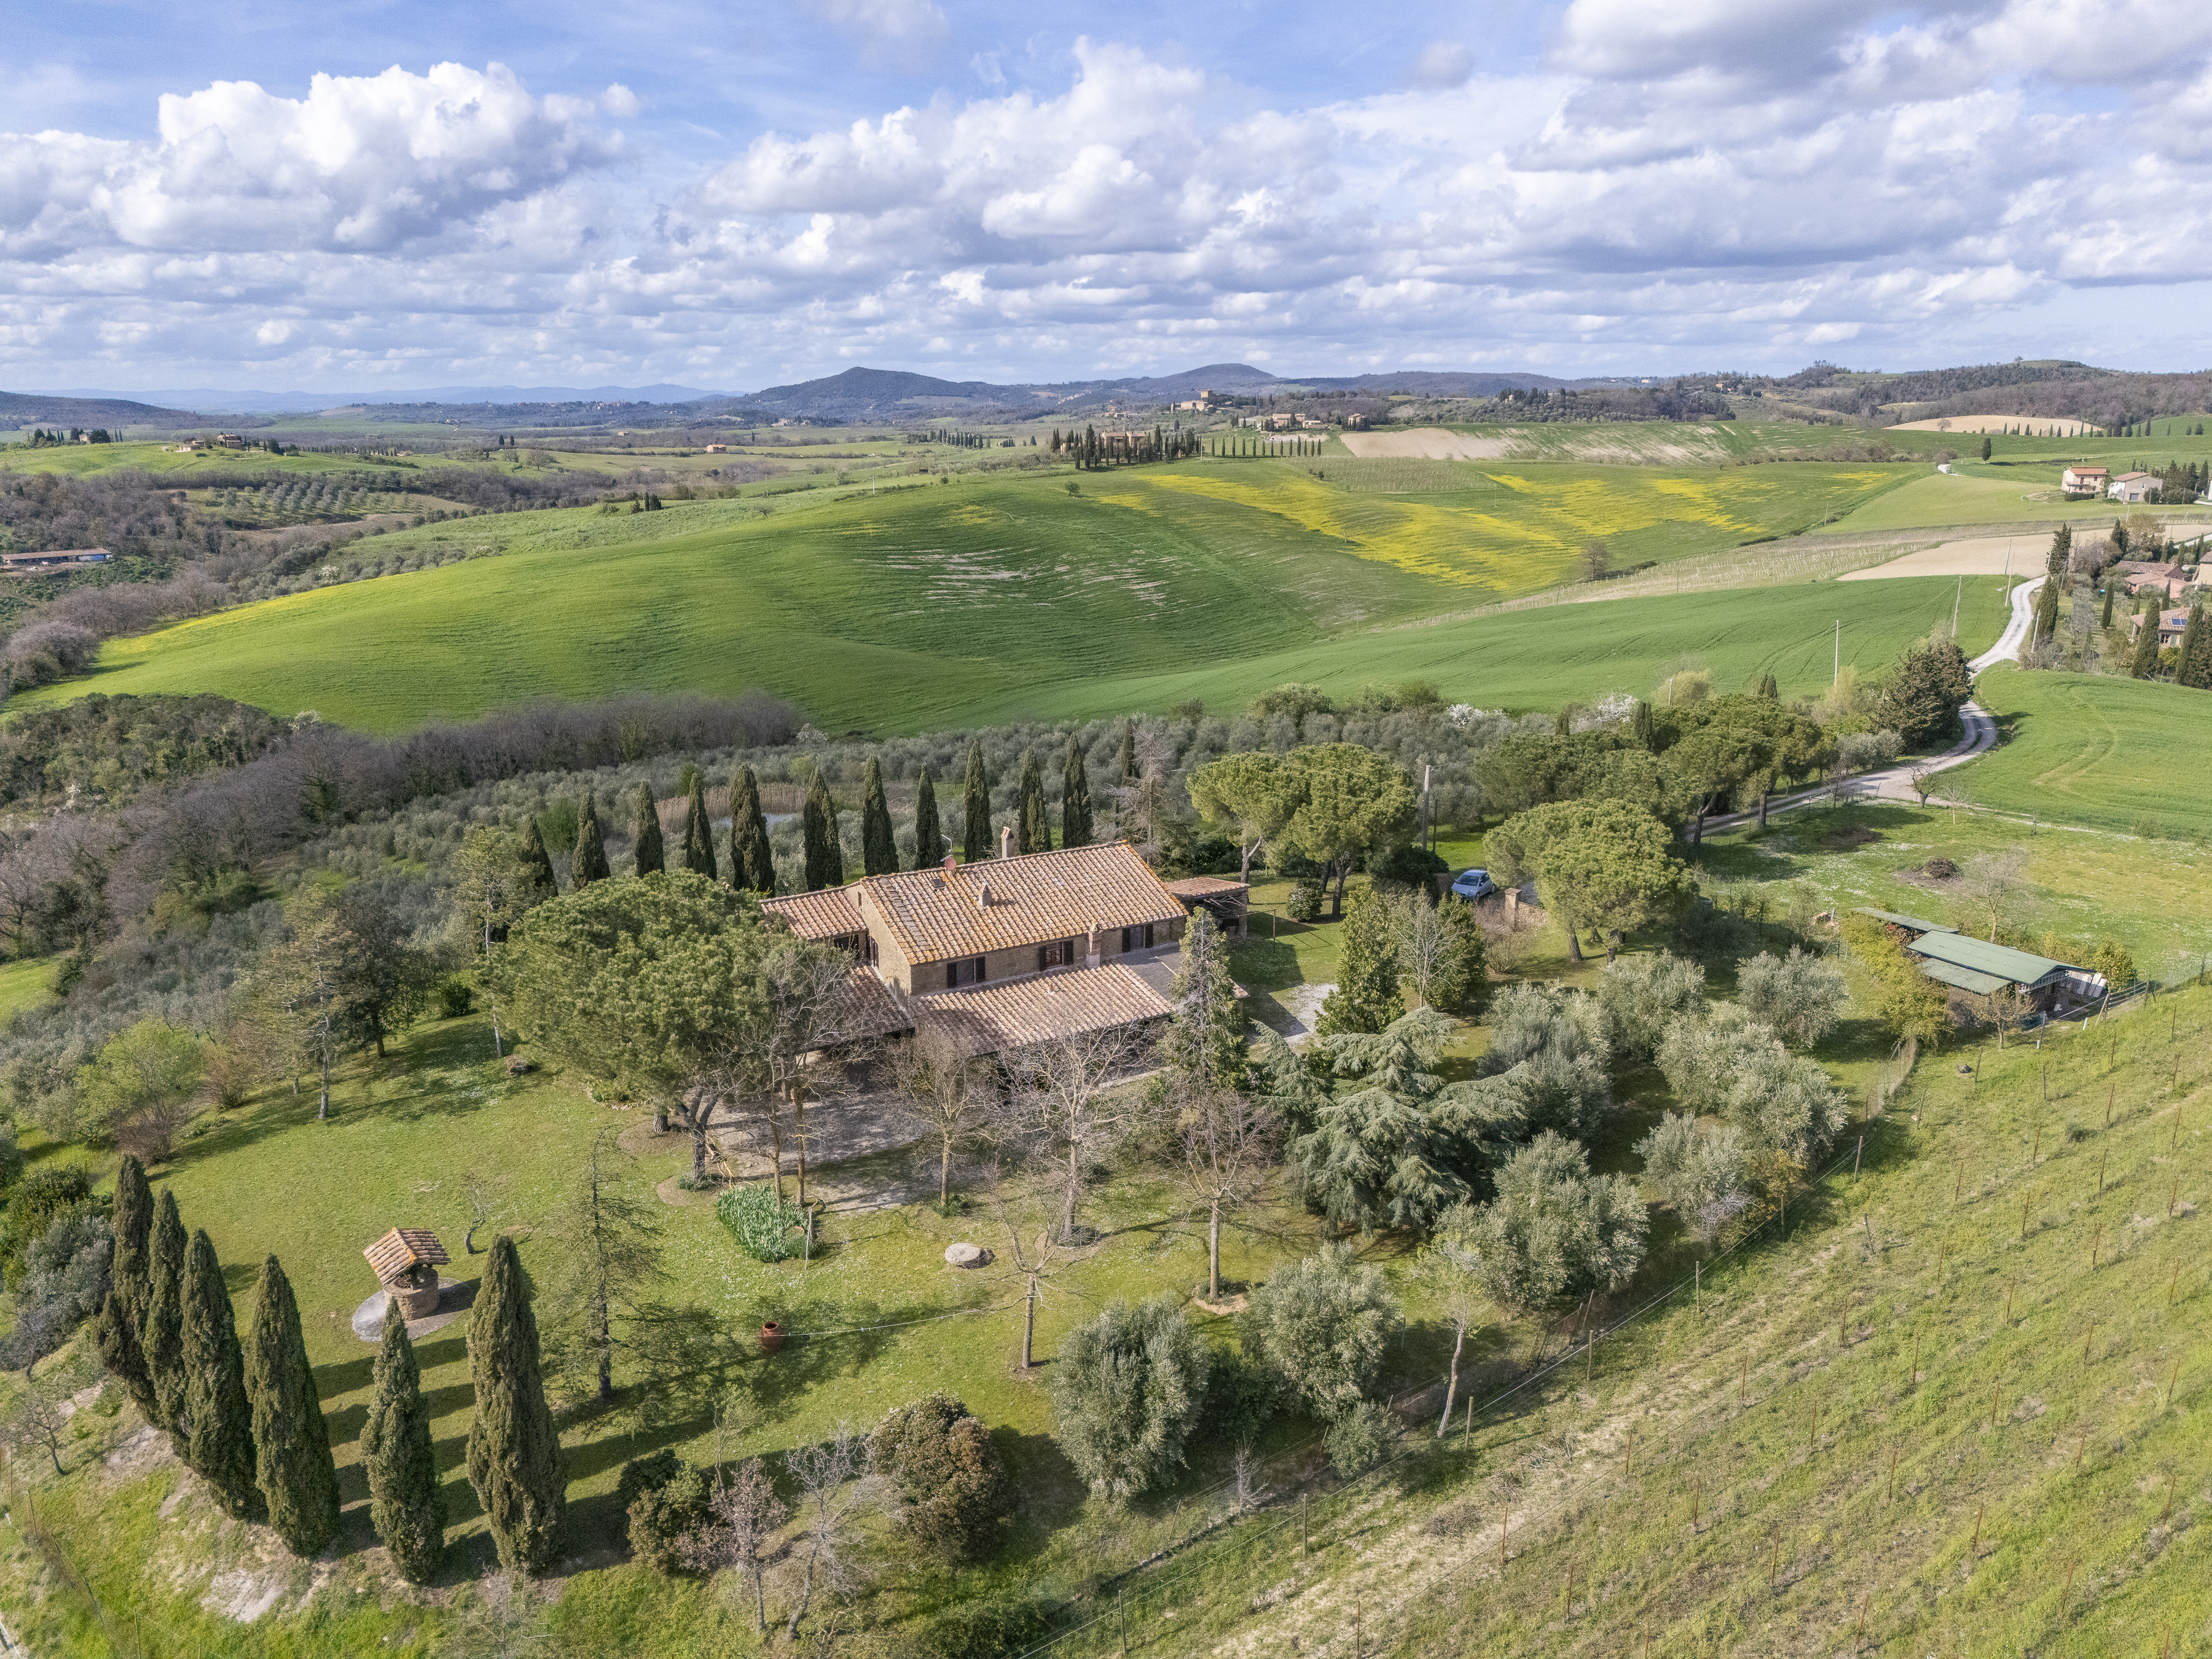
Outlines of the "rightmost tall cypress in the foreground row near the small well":
M 515 1241 L 491 1241 L 484 1283 L 469 1312 L 469 1484 L 484 1506 L 500 1566 L 544 1573 L 553 1566 L 568 1475 L 540 1376 L 538 1316 L 522 1281 Z

